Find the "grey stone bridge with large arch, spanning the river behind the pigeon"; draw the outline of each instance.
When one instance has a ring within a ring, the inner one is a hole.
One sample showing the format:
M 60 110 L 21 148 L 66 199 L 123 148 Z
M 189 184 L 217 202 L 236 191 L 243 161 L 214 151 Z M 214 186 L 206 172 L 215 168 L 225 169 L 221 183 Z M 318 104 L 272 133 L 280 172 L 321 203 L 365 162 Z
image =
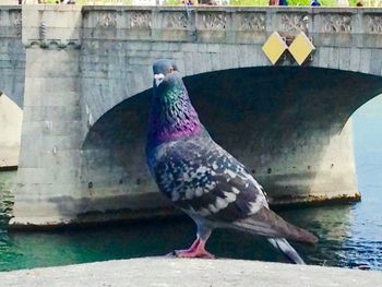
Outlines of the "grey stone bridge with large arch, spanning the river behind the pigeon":
M 15 227 L 171 213 L 144 162 L 152 62 L 273 204 L 359 199 L 350 115 L 382 93 L 382 10 L 0 7 L 0 91 L 23 109 Z M 300 67 L 262 51 L 315 46 Z

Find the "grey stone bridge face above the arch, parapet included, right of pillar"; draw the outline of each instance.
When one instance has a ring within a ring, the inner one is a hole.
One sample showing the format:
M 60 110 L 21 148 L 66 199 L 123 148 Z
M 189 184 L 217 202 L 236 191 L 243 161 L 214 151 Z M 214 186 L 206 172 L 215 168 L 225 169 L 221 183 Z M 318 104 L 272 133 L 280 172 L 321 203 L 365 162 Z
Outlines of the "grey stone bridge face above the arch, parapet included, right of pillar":
M 151 64 L 157 58 L 175 59 L 186 76 L 268 67 L 262 46 L 274 32 L 286 41 L 301 32 L 311 39 L 315 50 L 303 65 L 382 74 L 377 10 L 219 7 L 186 11 L 178 7 L 105 12 L 85 7 L 83 15 L 82 85 L 88 125 L 150 88 Z M 112 21 L 105 22 L 108 19 Z M 296 67 L 286 55 L 277 65 Z

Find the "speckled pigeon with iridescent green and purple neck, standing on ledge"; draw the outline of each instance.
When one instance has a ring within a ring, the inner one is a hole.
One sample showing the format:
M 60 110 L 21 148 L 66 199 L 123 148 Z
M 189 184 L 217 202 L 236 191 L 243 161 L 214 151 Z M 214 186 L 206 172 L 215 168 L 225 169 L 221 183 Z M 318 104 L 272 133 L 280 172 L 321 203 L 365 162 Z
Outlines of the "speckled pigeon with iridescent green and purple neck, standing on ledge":
M 205 243 L 215 228 L 266 237 L 296 264 L 305 264 L 287 239 L 315 243 L 318 238 L 270 210 L 262 186 L 243 164 L 213 141 L 193 108 L 182 76 L 169 59 L 153 64 L 152 110 L 146 162 L 159 190 L 198 227 L 189 249 L 177 258 L 214 255 Z

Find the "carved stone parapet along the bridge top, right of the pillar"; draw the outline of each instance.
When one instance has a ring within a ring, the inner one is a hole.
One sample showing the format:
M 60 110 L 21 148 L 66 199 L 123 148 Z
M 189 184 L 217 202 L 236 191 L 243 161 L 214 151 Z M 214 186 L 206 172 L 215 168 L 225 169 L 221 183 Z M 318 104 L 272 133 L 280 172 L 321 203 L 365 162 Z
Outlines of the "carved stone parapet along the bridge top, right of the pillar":
M 83 15 L 85 39 L 263 44 L 302 31 L 320 35 L 318 45 L 374 47 L 382 38 L 382 9 L 84 7 Z

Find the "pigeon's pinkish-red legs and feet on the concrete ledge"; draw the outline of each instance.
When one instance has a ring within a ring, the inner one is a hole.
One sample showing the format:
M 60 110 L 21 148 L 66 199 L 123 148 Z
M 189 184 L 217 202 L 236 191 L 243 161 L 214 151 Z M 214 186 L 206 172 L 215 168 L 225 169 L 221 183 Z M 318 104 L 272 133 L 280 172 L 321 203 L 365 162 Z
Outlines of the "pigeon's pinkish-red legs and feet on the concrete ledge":
M 205 250 L 205 243 L 211 236 L 211 229 L 204 226 L 198 226 L 196 240 L 189 249 L 176 250 L 174 255 L 177 258 L 203 258 L 214 259 L 215 256 Z

